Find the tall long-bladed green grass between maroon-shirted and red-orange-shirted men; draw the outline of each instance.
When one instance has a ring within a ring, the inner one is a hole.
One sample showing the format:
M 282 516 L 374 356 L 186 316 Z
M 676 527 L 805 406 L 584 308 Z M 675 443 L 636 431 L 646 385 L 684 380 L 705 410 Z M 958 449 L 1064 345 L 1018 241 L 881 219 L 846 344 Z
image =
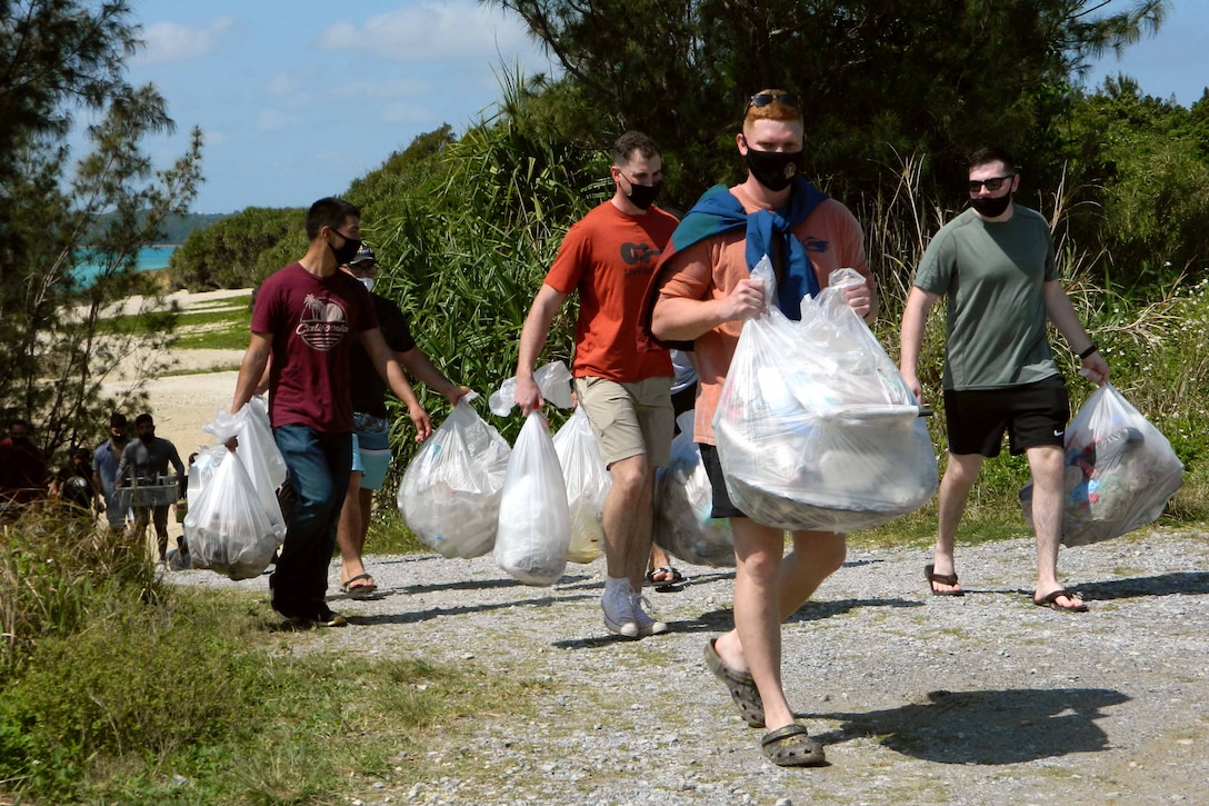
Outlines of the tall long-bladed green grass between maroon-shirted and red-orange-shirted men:
M 528 119 L 521 96 L 514 76 L 499 114 L 449 145 L 444 172 L 372 234 L 383 252 L 399 255 L 380 272 L 380 293 L 412 317 L 434 364 L 484 396 L 515 373 L 521 326 L 562 235 L 607 197 L 601 152 L 551 137 Z M 569 363 L 574 317 L 572 300 L 551 327 L 542 362 Z M 417 391 L 430 413 L 444 416 L 442 398 Z M 520 422 L 496 425 L 511 438 Z M 413 450 L 401 437 L 397 461 Z

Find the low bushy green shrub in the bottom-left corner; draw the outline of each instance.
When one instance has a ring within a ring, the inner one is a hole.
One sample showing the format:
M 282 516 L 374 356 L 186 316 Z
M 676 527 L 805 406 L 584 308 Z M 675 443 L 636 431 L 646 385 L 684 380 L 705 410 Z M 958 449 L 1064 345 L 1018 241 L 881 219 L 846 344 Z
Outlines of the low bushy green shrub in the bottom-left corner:
M 4 690 L 0 779 L 71 794 L 105 759 L 162 759 L 225 736 L 253 690 L 213 610 L 146 606 L 127 588 L 94 599 L 85 629 L 36 643 Z M 17 738 L 19 737 L 19 738 Z

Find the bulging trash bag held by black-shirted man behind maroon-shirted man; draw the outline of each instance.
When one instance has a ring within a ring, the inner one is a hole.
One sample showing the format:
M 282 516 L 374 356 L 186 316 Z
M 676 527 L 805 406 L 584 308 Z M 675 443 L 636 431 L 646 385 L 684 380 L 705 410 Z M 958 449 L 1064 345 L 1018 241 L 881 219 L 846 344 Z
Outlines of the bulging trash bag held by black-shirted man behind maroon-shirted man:
M 462 397 L 403 474 L 397 496 L 407 528 L 442 557 L 480 557 L 496 545 L 511 448 Z

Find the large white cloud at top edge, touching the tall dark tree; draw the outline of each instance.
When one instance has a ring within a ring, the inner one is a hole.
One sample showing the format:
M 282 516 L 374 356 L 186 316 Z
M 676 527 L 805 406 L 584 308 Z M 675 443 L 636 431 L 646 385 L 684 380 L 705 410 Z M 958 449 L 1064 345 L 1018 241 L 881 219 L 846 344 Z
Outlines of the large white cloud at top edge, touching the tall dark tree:
M 422 0 L 365 21 L 340 22 L 319 35 L 323 50 L 370 50 L 399 62 L 432 62 L 532 51 L 514 15 L 474 0 Z

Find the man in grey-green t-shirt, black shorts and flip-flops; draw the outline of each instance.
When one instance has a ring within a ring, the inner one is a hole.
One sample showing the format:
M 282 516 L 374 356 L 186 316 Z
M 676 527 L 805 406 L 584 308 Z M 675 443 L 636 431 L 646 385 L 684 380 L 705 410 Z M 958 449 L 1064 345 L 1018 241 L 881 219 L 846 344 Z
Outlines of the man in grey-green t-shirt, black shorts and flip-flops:
M 1000 149 L 970 157 L 970 209 L 932 238 L 907 297 L 899 368 L 922 399 L 918 362 L 932 305 L 947 298 L 944 411 L 949 461 L 941 479 L 933 560 L 925 566 L 935 595 L 965 595 L 953 559 L 954 537 L 983 457 L 997 456 L 1008 434 L 1013 456 L 1032 472 L 1037 582 L 1032 601 L 1065 612 L 1087 610 L 1058 581 L 1063 523 L 1063 449 L 1070 401 L 1049 350 L 1053 322 L 1097 384 L 1109 365 L 1078 322 L 1058 281 L 1045 217 L 1012 201 L 1016 162 Z

